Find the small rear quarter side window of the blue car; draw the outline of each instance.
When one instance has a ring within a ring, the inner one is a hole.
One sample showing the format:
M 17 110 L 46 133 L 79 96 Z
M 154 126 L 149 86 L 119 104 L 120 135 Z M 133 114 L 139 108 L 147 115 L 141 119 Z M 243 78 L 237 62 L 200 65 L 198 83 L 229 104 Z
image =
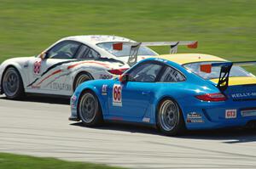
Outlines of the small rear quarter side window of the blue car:
M 179 71 L 170 66 L 166 66 L 165 72 L 160 77 L 160 82 L 182 82 L 185 80 L 185 77 Z

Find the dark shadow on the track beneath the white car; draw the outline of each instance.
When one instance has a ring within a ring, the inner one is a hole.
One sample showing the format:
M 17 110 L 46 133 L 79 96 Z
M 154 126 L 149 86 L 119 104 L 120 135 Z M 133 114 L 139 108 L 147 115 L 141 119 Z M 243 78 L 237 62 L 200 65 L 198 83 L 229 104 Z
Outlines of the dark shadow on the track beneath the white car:
M 12 101 L 11 99 L 7 99 L 4 95 L 1 95 L 0 99 Z M 15 101 L 35 102 L 35 103 L 45 103 L 45 104 L 69 104 L 70 103 L 70 99 L 46 97 L 46 96 L 26 96 L 23 99 L 19 99 Z

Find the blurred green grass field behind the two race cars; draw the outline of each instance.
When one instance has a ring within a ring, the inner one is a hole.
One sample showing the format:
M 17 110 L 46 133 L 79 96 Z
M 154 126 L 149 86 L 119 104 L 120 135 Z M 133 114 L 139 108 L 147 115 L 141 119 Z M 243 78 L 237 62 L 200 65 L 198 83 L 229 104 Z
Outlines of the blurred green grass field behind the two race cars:
M 199 48 L 179 52 L 252 60 L 255 7 L 255 0 L 0 0 L 0 62 L 39 54 L 61 37 L 82 34 L 198 40 Z

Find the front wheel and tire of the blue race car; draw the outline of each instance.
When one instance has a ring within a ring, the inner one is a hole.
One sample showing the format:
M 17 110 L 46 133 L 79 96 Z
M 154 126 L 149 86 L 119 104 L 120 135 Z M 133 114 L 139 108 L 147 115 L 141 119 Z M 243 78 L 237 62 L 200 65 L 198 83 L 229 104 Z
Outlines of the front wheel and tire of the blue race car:
M 96 94 L 86 90 L 79 99 L 79 118 L 85 127 L 96 127 L 102 124 L 102 108 Z

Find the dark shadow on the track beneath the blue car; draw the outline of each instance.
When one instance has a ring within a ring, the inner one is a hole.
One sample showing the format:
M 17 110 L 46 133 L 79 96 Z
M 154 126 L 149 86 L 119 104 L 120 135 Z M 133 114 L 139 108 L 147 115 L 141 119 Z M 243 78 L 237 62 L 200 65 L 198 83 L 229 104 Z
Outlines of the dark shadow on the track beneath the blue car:
M 73 126 L 84 127 L 82 122 L 71 123 Z M 122 132 L 145 133 L 160 135 L 163 137 L 170 137 L 161 134 L 154 127 L 137 126 L 131 124 L 109 123 L 107 122 L 102 127 L 96 127 L 99 130 L 116 130 Z M 247 142 L 256 142 L 256 129 L 248 128 L 224 128 L 217 130 L 198 130 L 186 131 L 182 135 L 175 136 L 175 138 L 184 139 L 206 139 L 206 140 L 220 140 L 224 144 L 239 144 Z

